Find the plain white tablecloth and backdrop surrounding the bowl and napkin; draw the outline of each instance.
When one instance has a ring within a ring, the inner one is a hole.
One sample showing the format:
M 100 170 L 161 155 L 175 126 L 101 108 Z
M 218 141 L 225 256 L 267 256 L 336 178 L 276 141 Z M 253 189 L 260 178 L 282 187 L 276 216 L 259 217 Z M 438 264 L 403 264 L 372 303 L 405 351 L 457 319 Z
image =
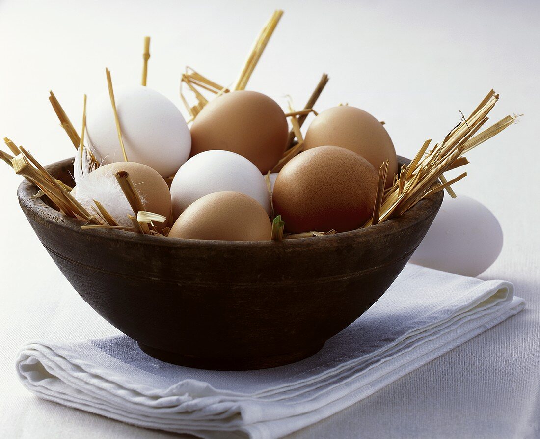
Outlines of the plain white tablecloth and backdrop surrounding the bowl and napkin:
M 71 157 L 49 90 L 78 129 L 83 93 L 106 91 L 105 66 L 114 84 L 139 83 L 145 35 L 148 85 L 178 106 L 185 65 L 228 85 L 275 8 L 285 15 L 248 89 L 282 105 L 290 94 L 301 107 L 327 72 L 316 110 L 348 102 L 371 112 L 403 156 L 444 137 L 491 88 L 501 94 L 493 122 L 525 113 L 468 154 L 469 176 L 455 189 L 487 205 L 504 231 L 502 254 L 481 278 L 514 282 L 527 309 L 292 436 L 540 435 L 540 3 L 2 1 L 0 136 L 43 164 Z M 18 207 L 21 179 L 0 166 L 0 437 L 172 437 L 38 400 L 17 382 L 24 342 L 116 330 L 59 273 Z

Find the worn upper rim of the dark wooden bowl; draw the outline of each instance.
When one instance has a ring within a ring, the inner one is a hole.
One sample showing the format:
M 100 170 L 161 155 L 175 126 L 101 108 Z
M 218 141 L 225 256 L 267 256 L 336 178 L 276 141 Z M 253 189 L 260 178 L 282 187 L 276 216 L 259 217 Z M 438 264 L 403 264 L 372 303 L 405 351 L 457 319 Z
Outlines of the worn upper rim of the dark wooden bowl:
M 399 165 L 407 164 L 409 159 L 397 156 Z M 55 173 L 56 170 L 65 166 L 72 166 L 74 157 L 56 161 L 45 166 L 46 170 Z M 426 220 L 429 215 L 436 212 L 442 204 L 443 191 L 438 191 L 429 197 L 421 199 L 407 212 L 399 217 L 389 219 L 367 228 L 354 229 L 348 232 L 339 232 L 333 235 L 323 235 L 321 237 L 295 238 L 284 239 L 281 241 L 220 241 L 220 240 L 199 240 L 199 239 L 184 239 L 184 238 L 168 238 L 161 236 L 150 236 L 138 234 L 118 229 L 82 229 L 81 225 L 85 221 L 75 218 L 66 217 L 64 214 L 45 204 L 41 198 L 32 199 L 31 197 L 38 192 L 38 188 L 27 180 L 23 180 L 17 189 L 17 197 L 25 214 L 32 213 L 35 218 L 45 221 L 55 228 L 69 229 L 72 232 L 84 233 L 93 235 L 96 238 L 114 240 L 114 241 L 130 241 L 138 242 L 144 245 L 155 245 L 163 247 L 261 247 L 269 248 L 276 245 L 285 245 L 287 248 L 305 248 L 310 246 L 326 245 L 332 242 L 334 245 L 340 244 L 359 244 L 369 241 L 373 235 L 391 234 L 396 230 L 403 231 L 410 227 L 414 227 L 418 222 Z

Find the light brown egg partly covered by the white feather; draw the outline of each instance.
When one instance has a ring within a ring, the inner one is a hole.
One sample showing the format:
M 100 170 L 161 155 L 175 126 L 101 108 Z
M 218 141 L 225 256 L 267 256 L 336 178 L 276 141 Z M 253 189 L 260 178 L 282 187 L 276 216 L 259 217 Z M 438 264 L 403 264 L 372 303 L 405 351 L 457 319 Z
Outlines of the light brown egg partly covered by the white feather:
M 161 175 L 154 171 L 150 166 L 136 163 L 134 161 L 117 161 L 108 165 L 103 165 L 92 173 L 99 175 L 114 175 L 119 171 L 127 172 L 133 184 L 137 188 L 141 199 L 143 199 L 144 208 L 148 212 L 163 215 L 168 220 L 171 218 L 171 191 L 166 181 Z M 73 188 L 75 190 L 75 188 Z M 98 201 L 99 197 L 96 196 Z M 111 212 L 112 213 L 112 212 Z M 159 224 L 160 226 L 162 224 Z M 165 226 L 163 224 L 163 226 Z

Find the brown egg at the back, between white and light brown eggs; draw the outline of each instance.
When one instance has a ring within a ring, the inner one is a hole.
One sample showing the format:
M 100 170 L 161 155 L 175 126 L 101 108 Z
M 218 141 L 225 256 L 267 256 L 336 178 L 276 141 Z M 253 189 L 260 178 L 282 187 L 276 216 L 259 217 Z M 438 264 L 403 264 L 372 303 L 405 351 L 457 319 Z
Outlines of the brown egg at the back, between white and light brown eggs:
M 255 91 L 234 91 L 212 100 L 193 121 L 191 156 L 232 151 L 266 174 L 283 156 L 287 136 L 285 113 L 273 99 Z

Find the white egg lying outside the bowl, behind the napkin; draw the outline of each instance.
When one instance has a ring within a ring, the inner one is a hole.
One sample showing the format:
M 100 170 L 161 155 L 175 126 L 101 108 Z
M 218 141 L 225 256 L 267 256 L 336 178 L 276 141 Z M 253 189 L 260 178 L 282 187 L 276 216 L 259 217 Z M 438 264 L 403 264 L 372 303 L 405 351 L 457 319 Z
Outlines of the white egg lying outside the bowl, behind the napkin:
M 501 226 L 487 207 L 465 195 L 453 199 L 445 194 L 410 262 L 474 277 L 495 262 L 502 246 Z

